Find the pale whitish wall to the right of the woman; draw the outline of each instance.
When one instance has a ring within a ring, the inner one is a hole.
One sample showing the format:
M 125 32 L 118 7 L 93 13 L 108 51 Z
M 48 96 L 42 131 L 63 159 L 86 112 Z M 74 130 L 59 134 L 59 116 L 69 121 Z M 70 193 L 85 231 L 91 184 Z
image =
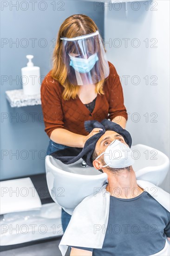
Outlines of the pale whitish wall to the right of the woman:
M 105 42 L 110 42 L 105 47 L 122 81 L 133 145 L 144 144 L 169 157 L 170 2 L 146 3 L 128 3 L 127 13 L 125 3 L 105 7 Z M 169 191 L 170 172 L 162 188 Z

